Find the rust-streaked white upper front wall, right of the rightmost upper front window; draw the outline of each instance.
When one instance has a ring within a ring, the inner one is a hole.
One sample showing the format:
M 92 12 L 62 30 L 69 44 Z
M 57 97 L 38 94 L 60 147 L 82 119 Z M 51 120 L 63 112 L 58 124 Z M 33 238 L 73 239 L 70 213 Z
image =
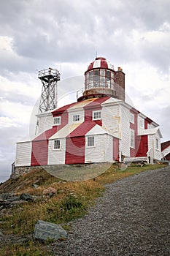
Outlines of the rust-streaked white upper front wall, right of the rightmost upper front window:
M 112 133 L 112 135 L 120 137 L 119 105 L 103 106 L 101 117 L 102 126 Z

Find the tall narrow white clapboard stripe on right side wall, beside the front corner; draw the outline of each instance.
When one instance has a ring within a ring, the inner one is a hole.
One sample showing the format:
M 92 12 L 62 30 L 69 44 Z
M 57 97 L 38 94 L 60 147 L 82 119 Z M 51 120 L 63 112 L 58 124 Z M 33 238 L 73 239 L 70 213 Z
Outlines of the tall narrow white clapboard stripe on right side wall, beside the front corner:
M 121 140 L 120 151 L 125 157 L 130 156 L 131 130 L 130 130 L 130 110 L 123 105 L 120 107 L 121 118 Z

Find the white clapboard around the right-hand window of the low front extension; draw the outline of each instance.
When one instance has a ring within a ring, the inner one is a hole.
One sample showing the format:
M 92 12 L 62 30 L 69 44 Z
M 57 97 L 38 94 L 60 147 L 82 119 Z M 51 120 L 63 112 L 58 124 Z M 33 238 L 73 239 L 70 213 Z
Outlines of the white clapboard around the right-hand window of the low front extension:
M 87 136 L 85 136 L 87 140 Z M 95 146 L 88 147 L 85 143 L 85 163 L 88 162 L 107 162 L 107 151 L 109 151 L 108 147 L 105 146 L 106 135 L 94 135 Z M 109 143 L 107 144 L 109 145 Z M 110 153 L 112 154 L 112 153 Z

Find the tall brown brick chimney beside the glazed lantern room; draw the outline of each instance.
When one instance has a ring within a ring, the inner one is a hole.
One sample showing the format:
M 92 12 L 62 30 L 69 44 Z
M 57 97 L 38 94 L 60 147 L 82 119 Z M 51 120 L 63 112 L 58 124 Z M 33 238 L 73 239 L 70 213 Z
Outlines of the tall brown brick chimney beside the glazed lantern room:
M 116 71 L 116 97 L 125 101 L 125 73 L 121 67 Z

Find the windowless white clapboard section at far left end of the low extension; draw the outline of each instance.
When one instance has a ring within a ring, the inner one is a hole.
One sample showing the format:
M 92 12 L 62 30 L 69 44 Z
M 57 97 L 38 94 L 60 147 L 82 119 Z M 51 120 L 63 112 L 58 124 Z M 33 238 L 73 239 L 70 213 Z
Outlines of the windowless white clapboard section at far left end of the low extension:
M 17 143 L 15 166 L 31 165 L 31 141 Z

